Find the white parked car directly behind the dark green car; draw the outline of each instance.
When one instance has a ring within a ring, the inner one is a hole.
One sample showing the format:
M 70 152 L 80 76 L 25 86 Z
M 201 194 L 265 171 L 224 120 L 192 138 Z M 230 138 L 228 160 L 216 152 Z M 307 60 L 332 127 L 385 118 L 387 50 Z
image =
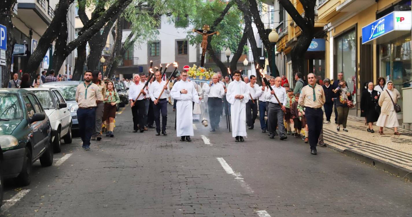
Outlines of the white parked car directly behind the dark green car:
M 52 125 L 52 141 L 54 153 L 61 151 L 61 138 L 65 144 L 72 143 L 72 116 L 67 108 L 66 100 L 54 87 L 26 88 L 33 92 L 46 111 Z

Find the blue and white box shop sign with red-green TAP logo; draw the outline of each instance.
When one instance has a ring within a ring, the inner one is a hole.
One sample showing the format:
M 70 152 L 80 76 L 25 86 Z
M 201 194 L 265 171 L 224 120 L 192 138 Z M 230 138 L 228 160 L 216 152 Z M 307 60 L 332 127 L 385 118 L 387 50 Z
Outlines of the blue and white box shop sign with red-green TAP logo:
M 362 28 L 362 44 L 382 44 L 411 32 L 412 12 L 394 11 Z

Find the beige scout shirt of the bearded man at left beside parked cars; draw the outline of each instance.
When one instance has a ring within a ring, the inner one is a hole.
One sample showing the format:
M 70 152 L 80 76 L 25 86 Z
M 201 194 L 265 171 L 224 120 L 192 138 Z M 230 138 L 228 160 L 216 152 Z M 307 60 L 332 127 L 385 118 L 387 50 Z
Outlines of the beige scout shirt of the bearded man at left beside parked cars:
M 96 107 L 96 100 L 103 101 L 103 95 L 96 84 L 90 82 L 89 85 L 86 83 L 77 85 L 76 101 L 79 108 Z

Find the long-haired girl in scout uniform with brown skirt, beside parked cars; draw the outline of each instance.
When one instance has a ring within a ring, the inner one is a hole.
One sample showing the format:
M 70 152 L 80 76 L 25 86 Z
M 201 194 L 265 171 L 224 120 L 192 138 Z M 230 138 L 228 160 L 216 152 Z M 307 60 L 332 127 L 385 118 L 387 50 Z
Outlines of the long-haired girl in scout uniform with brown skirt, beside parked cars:
M 114 86 L 112 81 L 106 84 L 106 98 L 103 99 L 103 120 L 106 122 L 106 127 L 108 126 L 106 137 L 114 137 L 113 129 L 115 128 L 116 105 L 120 103 L 119 94 L 115 91 Z

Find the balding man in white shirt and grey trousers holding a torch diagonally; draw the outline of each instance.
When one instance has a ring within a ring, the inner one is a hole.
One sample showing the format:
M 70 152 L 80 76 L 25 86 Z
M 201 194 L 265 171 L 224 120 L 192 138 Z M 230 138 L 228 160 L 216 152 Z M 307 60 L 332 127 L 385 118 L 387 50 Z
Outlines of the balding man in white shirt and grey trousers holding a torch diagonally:
M 269 111 L 268 111 L 268 122 L 267 125 L 269 127 L 269 137 L 273 139 L 275 137 L 276 131 L 276 123 L 279 127 L 279 135 L 281 140 L 287 139 L 288 137 L 285 134 L 285 125 L 283 124 L 283 116 L 285 115 L 283 111 L 286 111 L 286 102 L 287 102 L 287 95 L 286 90 L 281 86 L 282 78 L 281 77 L 270 77 L 270 85 L 272 87 L 272 91 L 266 92 L 266 100 L 269 101 Z M 275 96 L 278 97 L 281 105 L 276 100 Z

